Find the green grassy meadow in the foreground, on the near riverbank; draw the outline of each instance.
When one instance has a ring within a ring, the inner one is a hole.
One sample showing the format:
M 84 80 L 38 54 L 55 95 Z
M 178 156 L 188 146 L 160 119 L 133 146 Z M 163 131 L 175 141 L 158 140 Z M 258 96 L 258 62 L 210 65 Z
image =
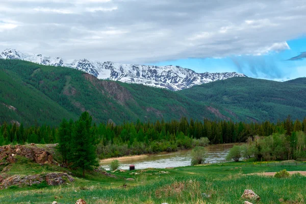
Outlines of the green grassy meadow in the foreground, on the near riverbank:
M 17 165 L 16 163 L 14 167 L 17 168 Z M 136 175 L 131 175 L 130 171 L 113 173 L 117 178 L 91 172 L 87 173 L 85 179 L 78 177 L 81 172 L 73 171 L 77 176 L 75 182 L 69 185 L 12 187 L 1 191 L 0 202 L 52 203 L 56 200 L 59 203 L 75 203 L 83 198 L 87 203 L 243 203 L 244 199 L 240 196 L 245 189 L 251 189 L 261 196 L 261 201 L 252 203 L 281 203 L 279 199 L 284 200 L 283 203 L 304 203 L 306 176 L 277 179 L 249 173 L 304 170 L 306 163 L 274 162 L 268 165 L 269 163 L 231 162 L 173 169 L 145 169 L 133 171 L 139 173 Z M 45 169 L 44 166 L 33 171 L 43 168 L 47 172 L 61 170 L 56 169 L 60 167 L 50 166 L 50 169 Z M 20 167 L 14 173 L 18 171 L 29 173 Z M 124 180 L 128 177 L 135 181 Z M 211 198 L 202 196 L 202 193 L 211 195 Z

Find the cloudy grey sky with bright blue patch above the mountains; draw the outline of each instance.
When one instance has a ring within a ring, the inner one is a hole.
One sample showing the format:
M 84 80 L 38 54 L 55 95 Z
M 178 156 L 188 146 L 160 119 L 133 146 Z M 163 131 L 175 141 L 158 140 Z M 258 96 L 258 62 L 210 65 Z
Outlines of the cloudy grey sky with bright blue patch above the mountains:
M 305 0 L 0 0 L 0 50 L 286 80 L 305 20 Z

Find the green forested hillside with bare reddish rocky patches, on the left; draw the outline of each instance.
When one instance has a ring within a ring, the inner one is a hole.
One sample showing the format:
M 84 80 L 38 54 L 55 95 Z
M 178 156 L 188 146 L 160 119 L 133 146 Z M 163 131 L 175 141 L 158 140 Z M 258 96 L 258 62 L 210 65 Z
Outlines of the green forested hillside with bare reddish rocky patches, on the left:
M 55 125 L 84 111 L 96 122 L 217 118 L 205 105 L 179 93 L 98 80 L 75 69 L 0 60 L 0 73 L 0 123 L 15 120 L 34 124 L 37 120 Z

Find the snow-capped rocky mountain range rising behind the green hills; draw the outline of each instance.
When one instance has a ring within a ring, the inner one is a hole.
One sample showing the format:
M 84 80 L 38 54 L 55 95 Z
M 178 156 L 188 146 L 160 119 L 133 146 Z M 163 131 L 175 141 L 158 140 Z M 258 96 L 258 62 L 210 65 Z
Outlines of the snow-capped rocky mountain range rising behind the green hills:
M 172 65 L 119 64 L 114 62 L 89 61 L 87 59 L 64 63 L 62 58 L 51 58 L 41 54 L 21 53 L 15 49 L 4 50 L 0 54 L 1 58 L 31 61 L 42 65 L 71 67 L 90 73 L 98 79 L 144 84 L 175 91 L 232 77 L 246 77 L 246 75 L 236 72 L 197 73 L 191 69 Z

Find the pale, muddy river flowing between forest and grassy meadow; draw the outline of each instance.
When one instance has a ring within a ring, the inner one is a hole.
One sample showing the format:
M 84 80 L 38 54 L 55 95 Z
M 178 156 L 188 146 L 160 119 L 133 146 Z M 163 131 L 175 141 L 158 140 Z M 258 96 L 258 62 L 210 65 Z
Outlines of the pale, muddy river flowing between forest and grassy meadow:
M 205 147 L 207 151 L 206 163 L 225 162 L 225 157 L 233 146 L 234 144 L 218 144 Z M 116 158 L 114 158 L 114 160 L 115 159 Z M 109 170 L 109 164 L 111 161 L 111 159 L 101 160 L 100 165 L 106 170 Z M 135 169 L 190 166 L 191 150 L 162 152 L 143 157 L 131 157 L 124 160 L 120 160 L 119 158 L 119 161 L 121 163 L 120 168 L 124 170 L 129 169 L 131 164 L 135 165 Z

